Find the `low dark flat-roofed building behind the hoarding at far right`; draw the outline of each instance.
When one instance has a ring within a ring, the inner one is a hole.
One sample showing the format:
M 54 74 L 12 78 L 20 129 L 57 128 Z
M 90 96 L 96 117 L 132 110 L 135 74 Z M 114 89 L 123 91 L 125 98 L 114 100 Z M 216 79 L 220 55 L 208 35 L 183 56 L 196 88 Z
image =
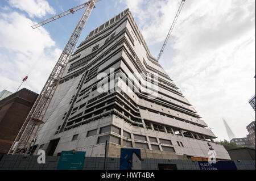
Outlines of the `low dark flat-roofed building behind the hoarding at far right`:
M 237 148 L 228 150 L 232 160 L 255 160 L 255 149 Z

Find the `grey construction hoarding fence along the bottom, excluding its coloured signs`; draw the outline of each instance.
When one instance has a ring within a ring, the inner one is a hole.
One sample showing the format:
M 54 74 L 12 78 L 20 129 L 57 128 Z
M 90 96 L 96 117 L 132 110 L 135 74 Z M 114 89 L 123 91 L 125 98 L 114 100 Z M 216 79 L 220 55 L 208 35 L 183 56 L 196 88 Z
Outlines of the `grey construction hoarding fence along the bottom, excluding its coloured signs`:
M 46 164 L 39 164 L 37 156 L 24 158 L 22 155 L 3 155 L 0 170 L 56 170 L 60 157 L 46 157 Z M 255 170 L 255 161 L 234 161 L 238 170 Z M 106 170 L 119 170 L 119 158 L 107 158 Z M 172 164 L 177 170 L 200 170 L 197 161 L 186 159 L 144 159 L 142 170 L 159 170 L 159 164 Z M 103 170 L 104 158 L 85 157 L 83 170 Z

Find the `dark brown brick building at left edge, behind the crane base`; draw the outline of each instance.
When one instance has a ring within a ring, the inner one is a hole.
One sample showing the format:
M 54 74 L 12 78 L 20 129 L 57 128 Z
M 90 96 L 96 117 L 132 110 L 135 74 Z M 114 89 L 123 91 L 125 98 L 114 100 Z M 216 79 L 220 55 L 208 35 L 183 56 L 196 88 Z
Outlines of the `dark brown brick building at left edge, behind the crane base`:
M 22 89 L 0 100 L 0 155 L 8 153 L 38 94 Z

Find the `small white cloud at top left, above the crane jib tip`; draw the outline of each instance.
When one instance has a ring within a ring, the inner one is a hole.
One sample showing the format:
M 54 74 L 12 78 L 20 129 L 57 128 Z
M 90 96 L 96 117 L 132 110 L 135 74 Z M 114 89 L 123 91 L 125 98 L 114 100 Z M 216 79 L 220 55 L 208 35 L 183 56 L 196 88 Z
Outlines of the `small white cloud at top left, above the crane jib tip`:
M 55 14 L 53 7 L 46 0 L 9 0 L 12 7 L 26 11 L 30 18 L 42 18 L 46 14 Z

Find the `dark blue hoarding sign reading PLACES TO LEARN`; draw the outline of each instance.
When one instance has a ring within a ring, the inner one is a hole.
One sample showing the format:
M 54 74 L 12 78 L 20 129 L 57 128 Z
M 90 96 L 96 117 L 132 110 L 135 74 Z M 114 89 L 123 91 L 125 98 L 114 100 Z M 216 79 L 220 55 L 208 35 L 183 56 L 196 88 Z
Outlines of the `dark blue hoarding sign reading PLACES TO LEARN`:
M 216 163 L 201 161 L 198 164 L 200 170 L 237 170 L 236 164 L 233 161 L 218 161 Z

